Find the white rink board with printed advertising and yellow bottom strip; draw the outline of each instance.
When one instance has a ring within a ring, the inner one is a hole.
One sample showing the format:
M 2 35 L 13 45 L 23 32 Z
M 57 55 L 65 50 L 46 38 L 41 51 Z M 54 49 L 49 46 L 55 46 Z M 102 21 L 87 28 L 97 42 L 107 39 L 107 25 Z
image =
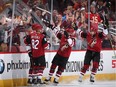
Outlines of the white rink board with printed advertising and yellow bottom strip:
M 44 77 L 48 76 L 51 61 L 56 52 L 46 52 L 46 69 Z M 61 82 L 69 83 L 78 78 L 83 66 L 85 51 L 72 51 L 66 69 L 60 78 Z M 27 53 L 0 54 L 0 87 L 27 85 L 28 69 L 30 66 Z M 90 69 L 84 79 L 89 79 Z M 116 57 L 112 50 L 101 52 L 101 59 L 96 80 L 116 80 Z M 44 79 L 44 78 L 43 78 Z

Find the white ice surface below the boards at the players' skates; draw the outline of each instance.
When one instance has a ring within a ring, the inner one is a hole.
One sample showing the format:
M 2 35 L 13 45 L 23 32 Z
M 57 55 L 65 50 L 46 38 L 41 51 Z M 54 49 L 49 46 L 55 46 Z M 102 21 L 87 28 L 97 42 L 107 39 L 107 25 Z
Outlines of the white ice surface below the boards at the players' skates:
M 96 81 L 94 84 L 89 82 L 78 83 L 73 81 L 71 83 L 60 83 L 57 86 L 50 85 L 33 85 L 33 86 L 18 86 L 18 87 L 116 87 L 116 81 Z

